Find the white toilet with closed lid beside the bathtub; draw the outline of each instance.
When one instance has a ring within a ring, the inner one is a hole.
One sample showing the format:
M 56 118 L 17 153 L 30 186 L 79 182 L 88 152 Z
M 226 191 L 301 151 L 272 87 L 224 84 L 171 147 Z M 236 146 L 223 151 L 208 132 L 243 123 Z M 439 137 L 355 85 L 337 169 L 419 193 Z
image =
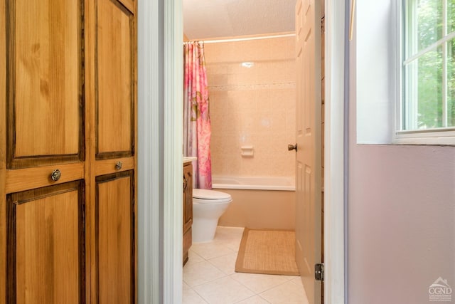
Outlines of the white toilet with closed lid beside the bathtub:
M 231 201 L 230 194 L 224 192 L 193 189 L 193 243 L 213 240 L 218 219 Z

